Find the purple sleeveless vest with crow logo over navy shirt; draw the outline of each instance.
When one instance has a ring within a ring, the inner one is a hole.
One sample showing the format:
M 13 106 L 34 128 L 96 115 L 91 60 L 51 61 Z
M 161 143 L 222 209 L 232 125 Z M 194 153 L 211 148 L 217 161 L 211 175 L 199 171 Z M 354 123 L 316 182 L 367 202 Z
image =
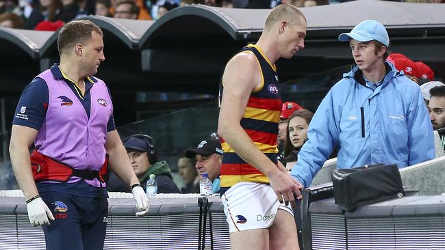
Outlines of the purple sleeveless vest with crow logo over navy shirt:
M 107 123 L 113 112 L 105 83 L 97 79 L 90 88 L 91 108 L 88 119 L 84 106 L 65 81 L 55 79 L 51 70 L 45 70 L 37 77 L 48 85 L 49 103 L 47 115 L 35 140 L 36 150 L 75 169 L 101 169 L 105 162 Z M 68 183 L 79 179 L 73 177 Z M 85 181 L 100 186 L 99 180 Z

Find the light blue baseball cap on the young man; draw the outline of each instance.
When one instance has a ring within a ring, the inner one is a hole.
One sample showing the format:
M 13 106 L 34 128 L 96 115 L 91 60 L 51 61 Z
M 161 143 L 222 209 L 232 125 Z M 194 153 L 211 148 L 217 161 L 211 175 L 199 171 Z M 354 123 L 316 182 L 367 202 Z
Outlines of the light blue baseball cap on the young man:
M 341 42 L 348 42 L 354 39 L 359 42 L 369 42 L 376 40 L 385 46 L 390 46 L 390 37 L 387 35 L 385 26 L 376 20 L 364 20 L 354 27 L 349 33 L 342 33 L 338 36 Z

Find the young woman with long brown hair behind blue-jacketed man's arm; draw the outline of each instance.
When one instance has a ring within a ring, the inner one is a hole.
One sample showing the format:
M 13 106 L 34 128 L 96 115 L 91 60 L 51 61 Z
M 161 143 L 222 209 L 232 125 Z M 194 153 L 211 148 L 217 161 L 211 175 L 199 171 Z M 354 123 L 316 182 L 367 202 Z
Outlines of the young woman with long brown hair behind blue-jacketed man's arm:
M 314 113 L 307 109 L 294 111 L 288 120 L 288 128 L 284 143 L 284 161 L 286 169 L 291 170 L 296 161 L 298 161 L 298 152 L 307 141 L 307 128 L 312 120 Z

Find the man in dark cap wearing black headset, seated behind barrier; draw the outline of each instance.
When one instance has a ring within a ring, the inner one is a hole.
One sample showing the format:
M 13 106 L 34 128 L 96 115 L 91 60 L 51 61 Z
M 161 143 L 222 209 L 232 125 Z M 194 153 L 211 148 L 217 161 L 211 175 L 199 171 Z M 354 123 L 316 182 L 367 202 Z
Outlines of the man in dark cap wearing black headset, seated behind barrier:
M 155 141 L 149 135 L 132 135 L 124 140 L 124 146 L 133 171 L 144 189 L 150 175 L 154 174 L 157 182 L 157 193 L 181 193 L 173 182 L 168 163 L 157 160 Z

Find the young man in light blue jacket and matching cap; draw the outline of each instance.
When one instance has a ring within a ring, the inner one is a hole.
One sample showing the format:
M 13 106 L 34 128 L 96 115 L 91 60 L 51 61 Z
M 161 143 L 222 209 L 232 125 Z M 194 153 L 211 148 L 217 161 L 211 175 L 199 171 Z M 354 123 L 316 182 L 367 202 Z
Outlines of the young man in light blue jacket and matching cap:
M 336 145 L 338 169 L 377 163 L 402 168 L 434 158 L 419 86 L 385 61 L 390 45 L 385 27 L 365 20 L 338 39 L 349 42 L 357 66 L 322 100 L 292 176 L 309 186 Z

